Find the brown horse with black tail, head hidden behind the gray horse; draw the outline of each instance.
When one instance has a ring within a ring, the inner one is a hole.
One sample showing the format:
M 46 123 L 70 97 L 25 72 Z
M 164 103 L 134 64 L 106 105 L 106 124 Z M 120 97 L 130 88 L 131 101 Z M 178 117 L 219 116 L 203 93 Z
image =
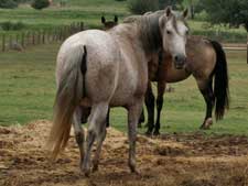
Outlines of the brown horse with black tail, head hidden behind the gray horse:
M 172 56 L 165 53 L 154 57 L 154 61 L 150 64 L 150 80 L 158 81 L 158 98 L 157 121 L 154 124 L 154 96 L 150 81 L 145 95 L 148 109 L 147 134 L 158 135 L 160 133 L 160 116 L 166 83 L 181 81 L 190 75 L 195 78 L 206 103 L 206 114 L 201 129 L 209 129 L 213 124 L 212 110 L 214 107 L 216 120 L 223 119 L 225 109 L 228 109 L 228 70 L 226 55 L 222 45 L 215 41 L 191 36 L 186 44 L 186 55 L 187 62 L 182 69 L 174 66 Z

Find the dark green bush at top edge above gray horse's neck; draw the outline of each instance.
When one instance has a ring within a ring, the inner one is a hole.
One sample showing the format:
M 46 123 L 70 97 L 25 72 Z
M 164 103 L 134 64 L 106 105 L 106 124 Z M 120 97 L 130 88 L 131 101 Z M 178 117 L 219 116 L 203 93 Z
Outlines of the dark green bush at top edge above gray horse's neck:
M 158 0 L 128 0 L 128 8 L 132 13 L 143 14 L 159 9 Z

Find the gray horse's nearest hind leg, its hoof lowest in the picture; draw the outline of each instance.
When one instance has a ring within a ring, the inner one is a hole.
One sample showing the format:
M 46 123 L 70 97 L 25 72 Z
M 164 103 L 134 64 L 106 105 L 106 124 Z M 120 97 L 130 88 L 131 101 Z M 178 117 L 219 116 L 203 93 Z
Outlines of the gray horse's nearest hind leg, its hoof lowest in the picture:
M 82 165 L 82 171 L 85 173 L 86 176 L 89 176 L 90 173 L 90 152 L 95 140 L 103 135 L 105 127 L 106 117 L 108 112 L 108 103 L 100 102 L 94 105 L 91 108 L 91 113 L 88 120 L 88 132 L 86 138 L 86 153 L 84 156 L 84 162 Z M 100 144 L 101 146 L 101 144 Z M 100 150 L 99 150 L 100 151 Z

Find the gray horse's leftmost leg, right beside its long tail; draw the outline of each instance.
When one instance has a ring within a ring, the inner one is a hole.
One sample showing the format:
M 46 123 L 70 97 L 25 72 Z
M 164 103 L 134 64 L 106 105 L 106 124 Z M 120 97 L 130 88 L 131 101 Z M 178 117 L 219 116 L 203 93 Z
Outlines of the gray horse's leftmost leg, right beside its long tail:
M 76 108 L 73 116 L 73 127 L 74 127 L 75 139 L 80 152 L 80 164 L 82 164 L 84 160 L 84 153 L 85 153 L 84 152 L 85 132 L 82 129 L 80 120 L 82 120 L 82 109 L 78 107 Z

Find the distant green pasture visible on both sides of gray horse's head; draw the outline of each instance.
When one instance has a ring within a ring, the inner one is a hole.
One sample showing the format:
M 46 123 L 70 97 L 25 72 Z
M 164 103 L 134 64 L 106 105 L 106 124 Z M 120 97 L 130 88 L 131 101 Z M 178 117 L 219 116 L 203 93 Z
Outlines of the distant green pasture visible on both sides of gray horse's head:
M 69 0 L 66 7 L 60 7 L 58 0 L 54 6 L 37 11 L 28 4 L 22 4 L 14 10 L 0 9 L 0 23 L 6 21 L 22 22 L 26 30 L 53 29 L 55 26 L 71 24 L 72 22 L 84 21 L 89 28 L 100 28 L 100 17 L 106 15 L 112 20 L 117 14 L 122 20 L 130 14 L 127 1 L 116 0 Z M 225 42 L 246 43 L 247 34 L 245 29 L 227 29 L 223 26 L 207 28 L 204 21 L 188 21 L 193 34 L 206 35 Z M 3 32 L 0 30 L 0 33 Z M 20 31 L 11 31 L 13 34 Z

